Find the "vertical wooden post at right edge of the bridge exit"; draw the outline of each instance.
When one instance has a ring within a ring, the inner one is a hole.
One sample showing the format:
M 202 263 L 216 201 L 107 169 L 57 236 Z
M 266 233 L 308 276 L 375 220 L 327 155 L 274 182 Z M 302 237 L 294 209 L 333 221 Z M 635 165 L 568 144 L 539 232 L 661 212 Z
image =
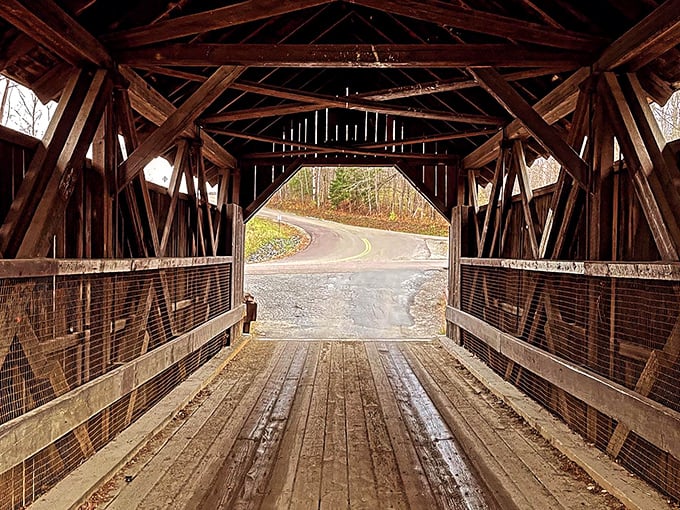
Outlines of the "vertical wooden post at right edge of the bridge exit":
M 449 298 L 448 305 L 460 309 L 462 305 L 461 257 L 470 255 L 470 213 L 472 208 L 457 205 L 451 211 L 451 227 L 449 228 Z M 462 345 L 460 328 L 446 323 L 446 336 Z

